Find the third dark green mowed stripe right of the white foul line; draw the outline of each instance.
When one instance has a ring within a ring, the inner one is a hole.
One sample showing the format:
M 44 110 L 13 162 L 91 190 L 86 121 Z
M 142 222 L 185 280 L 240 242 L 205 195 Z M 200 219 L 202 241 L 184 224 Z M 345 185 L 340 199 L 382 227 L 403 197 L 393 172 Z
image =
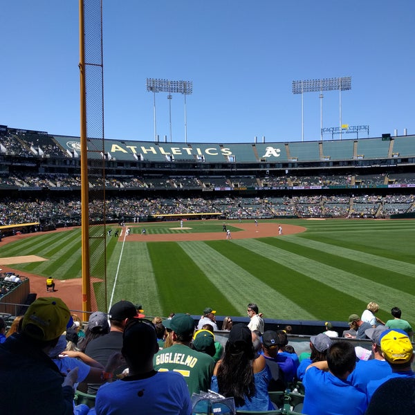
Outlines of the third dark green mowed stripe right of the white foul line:
M 378 262 L 374 261 L 373 258 L 371 258 L 372 260 L 368 259 L 365 261 L 365 252 L 356 251 L 356 254 L 360 255 L 356 255 L 357 259 L 355 259 L 353 255 L 342 255 L 341 248 L 331 252 L 329 249 L 330 246 L 324 243 L 313 244 L 312 241 L 308 241 L 310 243 L 304 244 L 301 242 L 296 243 L 297 241 L 301 241 L 301 239 L 295 239 L 293 237 L 284 240 L 270 238 L 263 239 L 262 241 L 277 248 L 282 248 L 297 255 L 301 255 L 302 257 L 317 259 L 322 264 L 335 266 L 335 268 L 384 284 L 385 286 L 390 286 L 391 288 L 405 286 L 405 291 L 407 291 L 407 293 L 415 293 L 415 279 L 410 275 L 395 272 L 392 266 L 385 266 L 385 263 L 389 261 L 388 259 L 379 258 L 378 266 Z M 319 248 L 323 249 L 320 251 Z M 322 255 L 321 252 L 324 252 L 324 255 Z M 373 255 L 370 256 L 373 257 Z M 411 266 L 411 264 L 408 265 L 409 267 Z

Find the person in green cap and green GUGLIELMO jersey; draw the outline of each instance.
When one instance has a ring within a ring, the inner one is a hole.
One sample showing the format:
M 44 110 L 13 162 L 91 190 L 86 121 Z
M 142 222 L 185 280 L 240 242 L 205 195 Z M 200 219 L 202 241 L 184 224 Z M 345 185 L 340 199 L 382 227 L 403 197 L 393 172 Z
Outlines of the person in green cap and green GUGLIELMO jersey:
M 170 331 L 173 345 L 156 353 L 154 369 L 184 374 L 190 395 L 210 389 L 214 360 L 208 354 L 190 348 L 194 332 L 192 316 L 178 313 L 171 320 L 164 320 L 163 326 Z

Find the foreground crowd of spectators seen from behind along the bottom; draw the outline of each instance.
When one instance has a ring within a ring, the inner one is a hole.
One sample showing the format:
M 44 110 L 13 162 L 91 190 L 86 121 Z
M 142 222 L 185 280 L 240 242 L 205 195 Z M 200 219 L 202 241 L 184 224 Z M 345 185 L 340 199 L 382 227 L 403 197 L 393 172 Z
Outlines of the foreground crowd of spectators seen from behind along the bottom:
M 62 299 L 39 297 L 24 315 L 0 317 L 3 412 L 202 414 L 209 390 L 227 414 L 414 413 L 414 331 L 400 308 L 382 322 L 370 302 L 347 330 L 326 322 L 297 342 L 291 326 L 269 329 L 257 304 L 247 308 L 248 322 L 220 326 L 210 307 L 197 322 L 146 317 L 121 300 L 82 322 Z M 20 399 L 5 399 L 17 384 Z

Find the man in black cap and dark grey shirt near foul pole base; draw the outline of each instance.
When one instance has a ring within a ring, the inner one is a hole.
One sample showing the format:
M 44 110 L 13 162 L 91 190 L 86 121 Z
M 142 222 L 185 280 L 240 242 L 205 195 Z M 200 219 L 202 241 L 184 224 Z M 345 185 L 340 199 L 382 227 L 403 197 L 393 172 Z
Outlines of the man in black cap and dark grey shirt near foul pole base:
M 91 340 L 86 346 L 85 354 L 93 358 L 101 365 L 107 365 L 107 362 L 114 352 L 120 352 L 122 348 L 122 333 L 128 318 L 133 318 L 137 315 L 136 306 L 129 301 L 122 300 L 113 304 L 109 310 L 109 320 L 111 322 L 111 329 L 108 334 L 102 335 L 94 340 Z M 118 367 L 112 376 L 120 374 L 125 365 Z M 100 385 L 90 383 L 88 385 L 88 393 L 96 394 Z

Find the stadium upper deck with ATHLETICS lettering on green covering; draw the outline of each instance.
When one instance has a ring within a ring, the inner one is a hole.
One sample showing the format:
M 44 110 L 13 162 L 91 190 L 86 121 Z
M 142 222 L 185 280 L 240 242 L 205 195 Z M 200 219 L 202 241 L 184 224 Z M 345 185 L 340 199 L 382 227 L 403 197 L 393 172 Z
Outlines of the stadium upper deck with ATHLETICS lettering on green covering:
M 93 140 L 90 138 L 89 142 Z M 297 163 L 302 167 L 307 163 L 321 167 L 353 166 L 355 162 L 365 165 L 366 160 L 376 160 L 380 164 L 412 164 L 415 163 L 415 136 L 238 144 L 111 139 L 104 140 L 104 152 L 90 153 L 89 158 L 104 156 L 107 160 L 131 163 L 259 163 L 280 168 L 293 168 Z M 0 154 L 79 158 L 80 138 L 0 126 Z

